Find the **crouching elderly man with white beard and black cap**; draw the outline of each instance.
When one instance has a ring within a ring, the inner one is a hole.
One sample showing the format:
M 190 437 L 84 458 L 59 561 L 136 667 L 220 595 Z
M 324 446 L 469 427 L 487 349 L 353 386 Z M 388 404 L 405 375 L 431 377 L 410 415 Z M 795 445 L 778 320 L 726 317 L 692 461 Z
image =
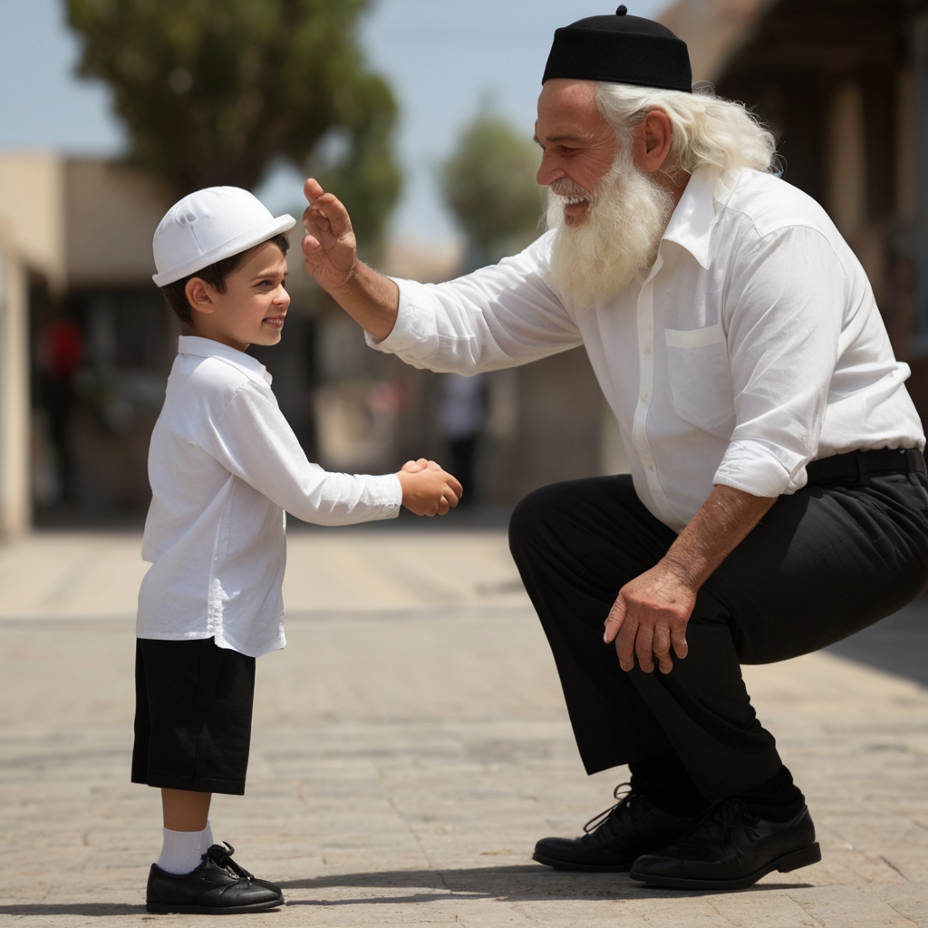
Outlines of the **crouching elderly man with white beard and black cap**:
M 820 852 L 740 664 L 816 651 L 928 583 L 909 368 L 829 217 L 772 173 L 772 136 L 692 92 L 663 26 L 620 6 L 558 30 L 536 137 L 550 230 L 521 254 L 437 286 L 381 277 L 310 180 L 306 269 L 416 367 L 585 346 L 631 476 L 535 491 L 510 544 L 586 770 L 631 783 L 535 859 L 742 888 Z

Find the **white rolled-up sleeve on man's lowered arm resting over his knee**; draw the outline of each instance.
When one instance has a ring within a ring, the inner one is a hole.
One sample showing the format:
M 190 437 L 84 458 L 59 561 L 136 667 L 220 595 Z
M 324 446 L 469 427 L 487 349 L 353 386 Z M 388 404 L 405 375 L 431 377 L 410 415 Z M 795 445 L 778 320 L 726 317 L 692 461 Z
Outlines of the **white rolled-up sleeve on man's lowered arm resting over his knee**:
M 759 238 L 737 261 L 725 303 L 736 424 L 714 483 L 754 496 L 806 485 L 846 336 L 847 276 L 817 230 Z M 850 320 L 853 329 L 853 320 Z

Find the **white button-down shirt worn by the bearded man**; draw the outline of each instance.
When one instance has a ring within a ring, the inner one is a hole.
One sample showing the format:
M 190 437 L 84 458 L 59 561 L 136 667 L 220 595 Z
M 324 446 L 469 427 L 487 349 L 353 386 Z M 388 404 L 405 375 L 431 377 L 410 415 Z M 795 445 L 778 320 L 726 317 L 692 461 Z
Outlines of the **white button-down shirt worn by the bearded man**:
M 806 484 L 813 458 L 924 447 L 870 283 L 815 200 L 770 174 L 695 172 L 657 260 L 609 303 L 554 289 L 554 231 L 445 284 L 398 280 L 380 351 L 469 374 L 586 346 L 641 501 L 680 531 L 713 484 Z

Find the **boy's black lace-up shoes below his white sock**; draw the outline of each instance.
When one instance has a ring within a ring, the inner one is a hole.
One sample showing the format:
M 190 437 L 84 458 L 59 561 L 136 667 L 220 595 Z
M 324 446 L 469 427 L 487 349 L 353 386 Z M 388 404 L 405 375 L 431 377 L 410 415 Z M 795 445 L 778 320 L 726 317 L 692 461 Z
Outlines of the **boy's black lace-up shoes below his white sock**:
M 148 873 L 146 909 L 193 915 L 237 915 L 260 912 L 284 903 L 274 883 L 256 880 L 232 859 L 231 844 L 213 844 L 191 873 L 175 876 L 152 864 Z

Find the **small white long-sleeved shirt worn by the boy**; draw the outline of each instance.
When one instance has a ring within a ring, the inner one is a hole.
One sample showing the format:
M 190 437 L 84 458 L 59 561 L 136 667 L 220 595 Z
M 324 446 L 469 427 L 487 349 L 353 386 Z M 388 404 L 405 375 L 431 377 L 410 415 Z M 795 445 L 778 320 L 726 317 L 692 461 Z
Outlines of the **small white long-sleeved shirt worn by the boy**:
M 215 638 L 251 657 L 283 648 L 285 510 L 320 525 L 398 514 L 395 474 L 328 473 L 306 459 L 270 382 L 248 354 L 180 339 L 148 452 L 138 638 Z

